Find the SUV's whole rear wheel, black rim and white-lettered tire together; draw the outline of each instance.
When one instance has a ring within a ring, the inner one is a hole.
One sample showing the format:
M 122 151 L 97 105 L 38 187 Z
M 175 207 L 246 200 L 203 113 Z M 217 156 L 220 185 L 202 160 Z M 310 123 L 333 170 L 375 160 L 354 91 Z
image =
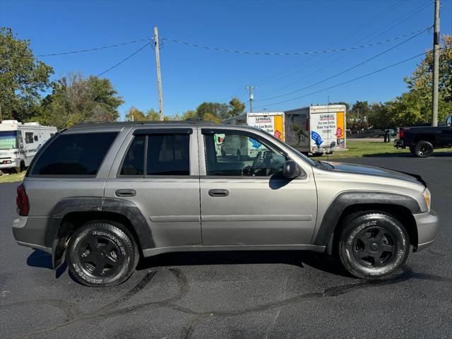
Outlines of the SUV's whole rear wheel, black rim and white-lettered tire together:
M 138 247 L 124 225 L 90 221 L 69 240 L 66 261 L 78 283 L 107 287 L 124 283 L 138 263 Z

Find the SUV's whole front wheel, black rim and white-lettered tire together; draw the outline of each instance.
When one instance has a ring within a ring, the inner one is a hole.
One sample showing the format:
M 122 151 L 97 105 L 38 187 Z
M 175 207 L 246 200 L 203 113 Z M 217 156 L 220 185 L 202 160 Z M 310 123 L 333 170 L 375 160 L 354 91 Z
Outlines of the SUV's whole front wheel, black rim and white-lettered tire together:
M 410 238 L 402 223 L 388 213 L 371 211 L 343 221 L 338 254 L 344 268 L 360 279 L 383 280 L 401 273 Z

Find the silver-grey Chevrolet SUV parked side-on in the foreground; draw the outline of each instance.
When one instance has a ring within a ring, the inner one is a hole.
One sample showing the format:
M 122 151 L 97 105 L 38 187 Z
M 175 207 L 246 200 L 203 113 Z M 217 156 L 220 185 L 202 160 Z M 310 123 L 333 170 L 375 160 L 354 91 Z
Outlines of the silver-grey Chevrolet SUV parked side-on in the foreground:
M 239 153 L 222 148 L 231 139 Z M 383 279 L 434 241 L 430 201 L 420 177 L 313 161 L 246 126 L 92 123 L 40 149 L 13 233 L 88 286 L 118 285 L 140 257 L 173 251 L 326 252 Z

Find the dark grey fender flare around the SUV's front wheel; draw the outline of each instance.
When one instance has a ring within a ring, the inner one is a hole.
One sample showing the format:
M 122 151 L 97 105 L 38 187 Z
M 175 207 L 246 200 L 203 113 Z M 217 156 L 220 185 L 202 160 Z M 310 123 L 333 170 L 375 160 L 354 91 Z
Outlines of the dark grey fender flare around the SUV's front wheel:
M 323 215 L 314 244 L 327 246 L 328 254 L 332 254 L 344 218 L 352 213 L 369 210 L 389 213 L 402 222 L 410 237 L 410 244 L 414 250 L 417 249 L 417 226 L 413 217 L 414 213 L 421 211 L 417 201 L 401 194 L 368 191 L 339 194 Z

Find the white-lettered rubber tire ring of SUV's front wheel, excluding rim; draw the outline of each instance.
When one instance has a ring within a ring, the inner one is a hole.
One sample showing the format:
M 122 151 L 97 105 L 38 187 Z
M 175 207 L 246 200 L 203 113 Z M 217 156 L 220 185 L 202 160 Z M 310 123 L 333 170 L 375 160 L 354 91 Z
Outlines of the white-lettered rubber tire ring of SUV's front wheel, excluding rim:
M 364 279 L 378 280 L 387 278 L 388 275 L 392 275 L 393 273 L 397 273 L 408 258 L 410 250 L 408 233 L 403 225 L 391 215 L 379 212 L 365 213 L 347 221 L 348 223 L 345 225 L 340 237 L 339 246 L 340 259 L 345 268 L 357 278 Z M 391 260 L 388 261 L 385 266 L 376 268 L 367 267 L 362 265 L 362 263 L 359 263 L 352 251 L 355 237 L 362 231 L 372 227 L 383 227 L 386 232 L 393 237 L 395 242 L 394 246 L 396 247 Z

